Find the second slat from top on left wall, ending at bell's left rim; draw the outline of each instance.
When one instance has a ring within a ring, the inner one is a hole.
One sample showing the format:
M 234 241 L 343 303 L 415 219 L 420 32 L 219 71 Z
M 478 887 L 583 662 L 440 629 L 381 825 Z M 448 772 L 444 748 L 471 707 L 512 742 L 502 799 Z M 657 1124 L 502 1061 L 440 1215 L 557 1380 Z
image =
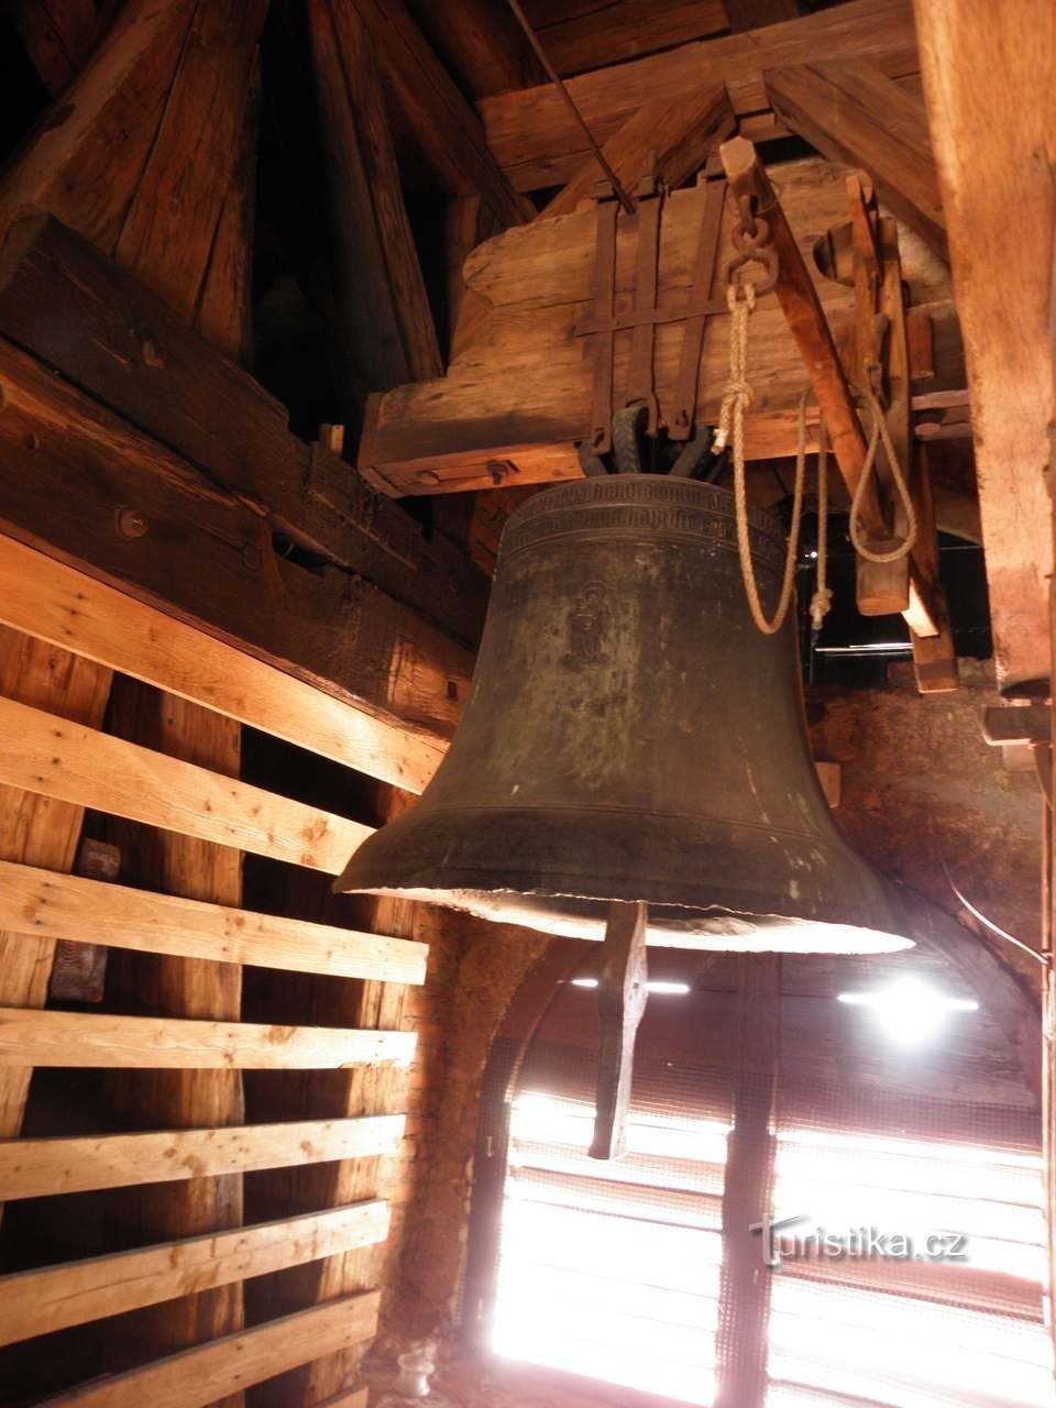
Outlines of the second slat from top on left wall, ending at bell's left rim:
M 328 874 L 372 829 L 14 700 L 0 700 L 0 781 Z

